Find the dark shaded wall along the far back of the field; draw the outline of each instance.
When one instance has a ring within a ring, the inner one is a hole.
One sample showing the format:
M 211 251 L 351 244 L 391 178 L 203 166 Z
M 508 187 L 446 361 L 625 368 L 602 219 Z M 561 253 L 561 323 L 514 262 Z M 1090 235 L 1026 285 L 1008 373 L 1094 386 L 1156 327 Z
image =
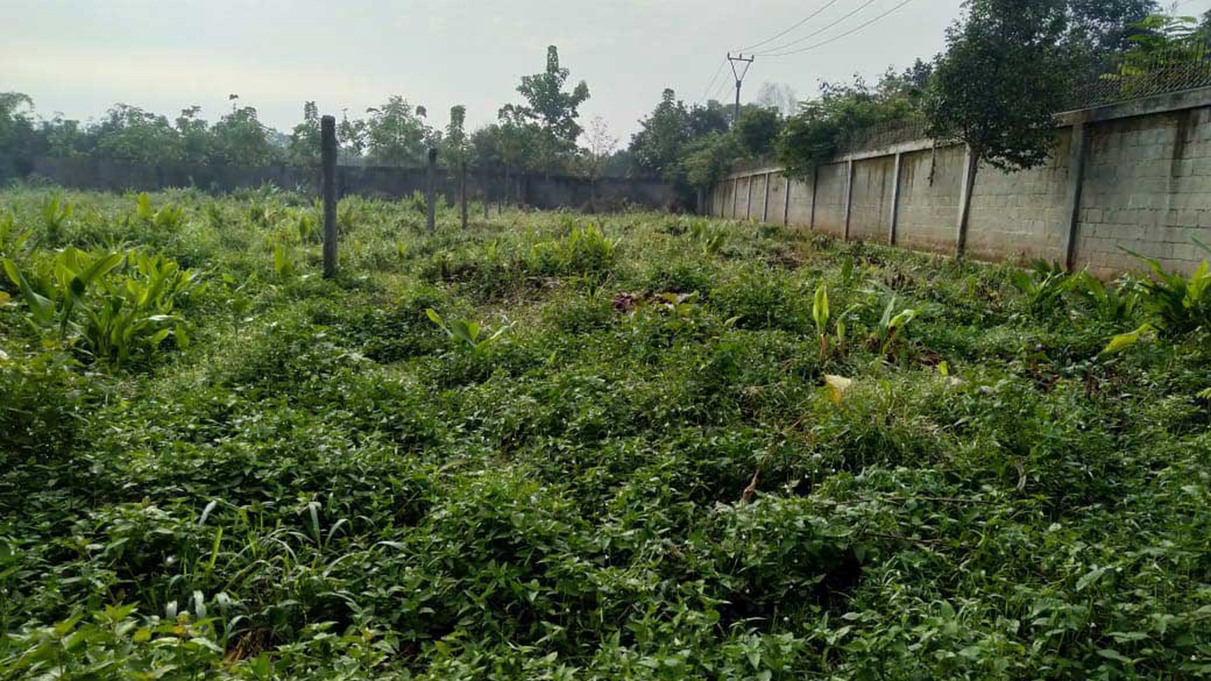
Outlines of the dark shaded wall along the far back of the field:
M 317 169 L 286 166 L 144 166 L 97 158 L 41 157 L 34 160 L 29 172 L 61 186 L 105 191 L 195 186 L 225 192 L 265 183 L 304 191 L 317 191 L 320 186 Z M 424 168 L 340 166 L 337 168 L 337 191 L 340 196 L 357 194 L 398 198 L 424 191 L 425 178 Z M 591 202 L 606 208 L 626 204 L 664 208 L 673 201 L 671 189 L 659 180 L 602 178 L 597 180 L 595 192 L 591 183 L 573 177 L 512 177 L 506 184 L 503 174 L 467 175 L 469 196 L 482 196 L 484 189 L 490 200 L 506 196 L 518 201 L 520 197 L 522 203 L 535 208 L 585 208 Z M 457 183 L 447 177 L 444 169 L 438 173 L 438 191 L 447 198 L 458 194 Z

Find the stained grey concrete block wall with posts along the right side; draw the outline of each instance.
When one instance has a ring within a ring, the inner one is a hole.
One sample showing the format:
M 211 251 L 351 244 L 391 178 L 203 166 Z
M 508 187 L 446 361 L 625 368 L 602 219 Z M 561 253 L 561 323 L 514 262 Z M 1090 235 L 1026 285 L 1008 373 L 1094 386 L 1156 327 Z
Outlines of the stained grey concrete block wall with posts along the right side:
M 1107 277 L 1141 267 L 1130 249 L 1192 272 L 1206 258 L 1194 239 L 1211 243 L 1211 88 L 1072 111 L 1058 121 L 1043 166 L 1017 173 L 980 166 L 965 254 L 1064 262 L 1071 248 L 1073 267 Z M 872 242 L 888 239 L 895 202 L 896 244 L 954 253 L 965 166 L 963 146 L 917 140 L 843 155 L 820 166 L 815 181 L 791 181 L 785 214 L 774 206 L 768 215 L 761 210 L 765 178 L 774 178 L 771 203 L 774 187 L 785 185 L 779 168 L 736 173 L 713 192 L 752 181 L 761 191 L 750 206 L 739 196 L 740 218 L 838 237 L 846 233 L 848 209 L 849 238 Z

